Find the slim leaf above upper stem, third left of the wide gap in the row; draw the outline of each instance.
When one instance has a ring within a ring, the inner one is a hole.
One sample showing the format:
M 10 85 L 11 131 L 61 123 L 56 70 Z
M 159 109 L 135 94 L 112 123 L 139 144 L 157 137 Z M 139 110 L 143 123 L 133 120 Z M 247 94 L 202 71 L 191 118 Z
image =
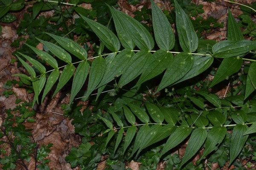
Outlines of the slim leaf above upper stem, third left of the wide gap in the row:
M 50 66 L 52 66 L 55 69 L 58 69 L 58 62 L 50 54 L 44 51 L 41 51 L 38 48 L 32 47 L 31 45 L 28 45 L 28 44 L 26 45 L 29 46 L 29 48 L 31 48 L 39 57 L 44 59 Z

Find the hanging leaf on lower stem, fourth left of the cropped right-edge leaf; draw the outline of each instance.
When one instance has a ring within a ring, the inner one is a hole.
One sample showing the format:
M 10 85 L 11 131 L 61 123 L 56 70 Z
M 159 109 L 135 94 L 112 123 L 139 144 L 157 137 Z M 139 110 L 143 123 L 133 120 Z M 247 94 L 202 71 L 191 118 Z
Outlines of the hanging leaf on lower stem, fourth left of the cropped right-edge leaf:
M 179 126 L 174 133 L 171 134 L 166 144 L 163 147 L 160 157 L 162 157 L 166 152 L 180 144 L 186 137 L 191 133 L 191 128 L 181 125 Z

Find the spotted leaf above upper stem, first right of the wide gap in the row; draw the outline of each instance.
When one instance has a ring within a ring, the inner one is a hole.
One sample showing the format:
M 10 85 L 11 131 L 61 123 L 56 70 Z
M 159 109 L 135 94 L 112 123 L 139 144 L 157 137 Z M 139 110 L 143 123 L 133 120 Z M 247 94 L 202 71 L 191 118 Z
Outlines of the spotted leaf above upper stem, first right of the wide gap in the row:
M 88 23 L 90 28 L 92 28 L 94 33 L 110 51 L 117 52 L 120 49 L 120 42 L 112 31 L 96 21 L 90 20 L 82 15 L 81 17 Z

